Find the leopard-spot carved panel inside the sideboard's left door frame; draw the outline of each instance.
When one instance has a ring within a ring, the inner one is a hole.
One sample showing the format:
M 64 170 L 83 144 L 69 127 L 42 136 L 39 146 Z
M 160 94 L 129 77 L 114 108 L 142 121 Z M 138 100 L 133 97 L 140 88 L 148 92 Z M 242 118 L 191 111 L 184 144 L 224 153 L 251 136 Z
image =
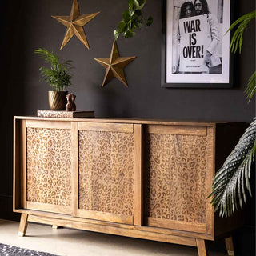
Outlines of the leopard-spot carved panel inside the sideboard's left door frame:
M 71 202 L 70 130 L 27 128 L 27 201 Z

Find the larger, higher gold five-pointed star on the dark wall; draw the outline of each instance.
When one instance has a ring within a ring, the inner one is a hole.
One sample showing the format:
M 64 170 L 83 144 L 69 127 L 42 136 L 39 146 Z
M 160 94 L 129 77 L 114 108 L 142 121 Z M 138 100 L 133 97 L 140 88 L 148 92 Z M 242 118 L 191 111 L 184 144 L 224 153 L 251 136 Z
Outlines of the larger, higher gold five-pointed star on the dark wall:
M 100 12 L 94 13 L 94 14 L 80 15 L 78 0 L 74 0 L 70 16 L 52 16 L 58 22 L 61 22 L 64 26 L 67 27 L 66 34 L 63 39 L 60 50 L 62 50 L 62 48 L 66 46 L 66 43 L 70 41 L 70 39 L 74 36 L 74 34 L 88 49 L 90 49 L 86 39 L 85 31 L 83 30 L 83 26 L 85 26 L 88 22 L 90 22 L 90 20 L 93 19 L 99 13 Z

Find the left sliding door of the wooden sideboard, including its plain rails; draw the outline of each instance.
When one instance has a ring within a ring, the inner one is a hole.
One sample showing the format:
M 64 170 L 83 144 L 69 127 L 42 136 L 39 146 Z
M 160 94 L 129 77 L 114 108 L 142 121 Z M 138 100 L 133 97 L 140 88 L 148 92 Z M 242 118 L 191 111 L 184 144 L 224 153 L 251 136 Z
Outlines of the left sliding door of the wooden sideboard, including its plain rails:
M 70 122 L 22 120 L 22 207 L 70 214 Z

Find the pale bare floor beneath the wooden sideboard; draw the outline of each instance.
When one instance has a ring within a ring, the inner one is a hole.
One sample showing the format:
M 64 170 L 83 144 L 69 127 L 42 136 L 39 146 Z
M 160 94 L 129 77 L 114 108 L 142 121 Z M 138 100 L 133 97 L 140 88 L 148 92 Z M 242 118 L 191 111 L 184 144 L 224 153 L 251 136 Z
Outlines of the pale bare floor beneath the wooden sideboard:
M 19 222 L 0 219 L 0 243 L 66 256 L 197 256 L 197 249 L 82 230 L 29 223 L 18 237 Z M 210 244 L 209 256 L 226 256 L 224 245 Z M 217 250 L 218 247 L 218 250 Z M 221 250 L 221 251 L 220 251 Z

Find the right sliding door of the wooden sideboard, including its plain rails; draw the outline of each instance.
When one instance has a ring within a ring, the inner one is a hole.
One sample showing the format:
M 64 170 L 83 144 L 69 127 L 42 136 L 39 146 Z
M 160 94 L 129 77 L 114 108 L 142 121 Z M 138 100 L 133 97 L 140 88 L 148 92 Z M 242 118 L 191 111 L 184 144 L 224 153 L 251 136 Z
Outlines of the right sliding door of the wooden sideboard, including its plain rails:
M 145 224 L 213 233 L 214 127 L 146 126 Z

